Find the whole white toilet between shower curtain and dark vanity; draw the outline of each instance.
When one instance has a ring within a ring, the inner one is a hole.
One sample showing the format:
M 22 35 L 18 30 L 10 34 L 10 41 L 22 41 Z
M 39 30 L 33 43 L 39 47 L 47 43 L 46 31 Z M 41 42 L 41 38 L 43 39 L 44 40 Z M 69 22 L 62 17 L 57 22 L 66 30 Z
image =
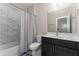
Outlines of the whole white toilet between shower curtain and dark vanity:
M 29 49 L 32 51 L 32 56 L 41 56 L 41 35 L 37 36 L 37 42 L 32 43 Z

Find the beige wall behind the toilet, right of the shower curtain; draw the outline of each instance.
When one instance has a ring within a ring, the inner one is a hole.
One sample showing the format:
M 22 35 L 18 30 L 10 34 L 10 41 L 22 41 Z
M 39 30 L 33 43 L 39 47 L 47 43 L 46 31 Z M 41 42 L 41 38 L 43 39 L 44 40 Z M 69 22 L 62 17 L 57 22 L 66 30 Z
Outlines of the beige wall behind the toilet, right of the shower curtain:
M 36 12 L 34 12 L 35 7 L 30 6 L 28 12 L 36 13 L 36 23 L 37 23 L 37 34 L 47 33 L 47 4 L 36 4 Z

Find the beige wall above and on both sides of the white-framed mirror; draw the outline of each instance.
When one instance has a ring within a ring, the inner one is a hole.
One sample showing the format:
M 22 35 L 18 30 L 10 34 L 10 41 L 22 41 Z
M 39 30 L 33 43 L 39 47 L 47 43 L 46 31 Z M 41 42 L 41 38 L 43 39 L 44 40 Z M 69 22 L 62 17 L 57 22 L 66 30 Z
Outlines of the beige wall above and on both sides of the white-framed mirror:
M 73 33 L 78 33 L 79 32 L 79 15 L 77 14 L 77 9 L 79 4 L 71 4 L 69 7 L 66 7 L 64 9 L 60 9 L 58 11 L 53 11 L 48 14 L 48 31 L 56 31 L 56 18 L 60 16 L 65 16 L 70 14 L 71 16 L 71 26 L 72 26 L 72 32 Z

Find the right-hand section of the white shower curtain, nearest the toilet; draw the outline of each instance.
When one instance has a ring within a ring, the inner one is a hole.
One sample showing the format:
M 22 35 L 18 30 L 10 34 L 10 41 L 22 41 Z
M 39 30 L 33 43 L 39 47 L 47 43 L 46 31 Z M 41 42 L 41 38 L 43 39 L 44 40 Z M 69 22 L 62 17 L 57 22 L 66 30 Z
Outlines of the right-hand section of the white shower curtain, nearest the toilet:
M 35 41 L 36 37 L 36 23 L 35 23 L 35 16 L 33 14 L 27 13 L 27 29 L 28 29 L 28 48 L 32 42 Z

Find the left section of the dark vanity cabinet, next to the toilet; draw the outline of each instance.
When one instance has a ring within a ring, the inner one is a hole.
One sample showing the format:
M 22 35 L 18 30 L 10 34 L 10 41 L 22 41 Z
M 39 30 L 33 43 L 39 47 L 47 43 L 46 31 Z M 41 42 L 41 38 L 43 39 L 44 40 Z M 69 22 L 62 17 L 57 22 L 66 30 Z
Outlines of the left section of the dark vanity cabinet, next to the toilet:
M 53 46 L 52 46 L 52 39 L 48 40 L 49 38 L 43 38 L 42 40 L 42 55 L 43 56 L 52 56 L 53 55 Z

